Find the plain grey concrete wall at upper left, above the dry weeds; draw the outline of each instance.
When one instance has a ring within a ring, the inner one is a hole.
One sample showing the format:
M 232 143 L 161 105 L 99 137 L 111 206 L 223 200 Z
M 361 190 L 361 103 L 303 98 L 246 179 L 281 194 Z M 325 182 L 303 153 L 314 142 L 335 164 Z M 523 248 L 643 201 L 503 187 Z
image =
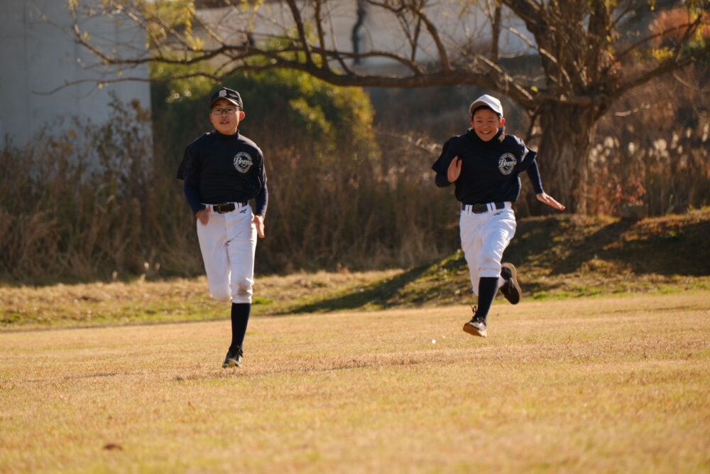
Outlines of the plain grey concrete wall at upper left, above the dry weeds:
M 86 3 L 84 1 L 84 3 Z M 43 18 L 45 17 L 45 18 Z M 97 59 L 74 43 L 66 0 L 2 0 L 0 14 L 0 146 L 6 140 L 21 146 L 45 126 L 61 131 L 70 117 L 102 123 L 109 117 L 110 92 L 124 102 L 138 99 L 150 109 L 148 82 L 118 82 L 97 88 L 92 82 L 65 87 L 67 82 L 116 77 L 104 67 L 87 69 Z M 114 18 L 82 22 L 82 31 L 116 48 L 144 48 L 145 36 Z M 126 76 L 148 77 L 143 66 Z

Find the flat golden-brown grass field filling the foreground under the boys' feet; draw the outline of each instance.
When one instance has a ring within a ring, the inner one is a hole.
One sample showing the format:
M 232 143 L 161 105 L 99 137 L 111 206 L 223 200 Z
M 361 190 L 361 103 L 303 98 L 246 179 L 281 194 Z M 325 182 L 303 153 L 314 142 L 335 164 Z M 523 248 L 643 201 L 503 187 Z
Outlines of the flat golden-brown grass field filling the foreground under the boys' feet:
M 710 472 L 709 291 L 469 313 L 0 333 L 0 471 Z

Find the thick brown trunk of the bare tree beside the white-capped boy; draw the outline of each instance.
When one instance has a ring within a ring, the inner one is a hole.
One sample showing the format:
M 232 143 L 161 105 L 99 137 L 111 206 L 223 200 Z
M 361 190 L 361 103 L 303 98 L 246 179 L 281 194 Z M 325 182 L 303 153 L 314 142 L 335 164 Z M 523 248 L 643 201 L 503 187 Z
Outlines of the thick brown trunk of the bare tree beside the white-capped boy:
M 545 192 L 572 212 L 586 213 L 589 150 L 596 132 L 594 106 L 548 103 L 540 108 L 537 158 Z

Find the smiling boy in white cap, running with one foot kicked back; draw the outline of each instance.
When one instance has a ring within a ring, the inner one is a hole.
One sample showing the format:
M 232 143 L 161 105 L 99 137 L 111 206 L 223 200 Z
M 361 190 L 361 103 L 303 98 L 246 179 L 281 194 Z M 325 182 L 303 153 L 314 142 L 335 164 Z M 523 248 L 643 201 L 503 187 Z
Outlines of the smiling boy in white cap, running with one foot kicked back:
M 501 101 L 482 95 L 469 106 L 471 128 L 444 144 L 441 156 L 432 165 L 439 188 L 454 183 L 461 201 L 459 230 L 461 249 L 471 276 L 471 290 L 478 296 L 474 316 L 464 324 L 471 335 L 487 337 L 488 311 L 498 289 L 510 303 L 520 301 L 521 291 L 515 266 L 501 263 L 503 252 L 515 235 L 513 203 L 520 195 L 523 171 L 541 203 L 564 210 L 542 190 L 535 157 L 517 136 L 506 135 Z

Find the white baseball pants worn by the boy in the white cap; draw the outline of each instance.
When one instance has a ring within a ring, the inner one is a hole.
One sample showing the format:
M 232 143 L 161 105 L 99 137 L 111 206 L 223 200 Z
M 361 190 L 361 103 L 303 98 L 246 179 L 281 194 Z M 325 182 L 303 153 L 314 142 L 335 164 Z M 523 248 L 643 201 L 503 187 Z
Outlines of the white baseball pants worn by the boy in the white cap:
M 471 289 L 476 295 L 479 294 L 481 277 L 500 279 L 503 252 L 513 239 L 517 225 L 509 202 L 501 210 L 496 210 L 492 203 L 487 207 L 487 212 L 474 214 L 471 206 L 466 206 L 459 218 L 461 249 L 469 265 Z

